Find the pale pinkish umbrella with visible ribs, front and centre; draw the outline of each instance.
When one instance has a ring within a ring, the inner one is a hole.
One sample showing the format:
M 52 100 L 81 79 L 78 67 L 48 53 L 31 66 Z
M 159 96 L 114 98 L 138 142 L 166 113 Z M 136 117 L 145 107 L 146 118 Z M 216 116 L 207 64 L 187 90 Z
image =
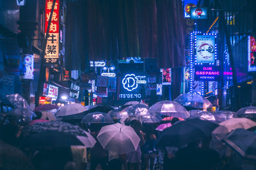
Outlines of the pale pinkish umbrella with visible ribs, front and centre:
M 97 139 L 104 149 L 118 154 L 135 151 L 140 143 L 132 127 L 118 123 L 102 127 Z

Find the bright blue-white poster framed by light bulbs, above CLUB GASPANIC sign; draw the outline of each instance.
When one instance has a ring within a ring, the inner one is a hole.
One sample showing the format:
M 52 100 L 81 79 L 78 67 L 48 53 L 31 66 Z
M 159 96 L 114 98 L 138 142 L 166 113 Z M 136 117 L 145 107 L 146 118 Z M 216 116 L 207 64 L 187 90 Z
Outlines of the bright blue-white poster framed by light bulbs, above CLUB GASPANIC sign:
M 197 35 L 196 36 L 196 62 L 214 63 L 214 36 Z

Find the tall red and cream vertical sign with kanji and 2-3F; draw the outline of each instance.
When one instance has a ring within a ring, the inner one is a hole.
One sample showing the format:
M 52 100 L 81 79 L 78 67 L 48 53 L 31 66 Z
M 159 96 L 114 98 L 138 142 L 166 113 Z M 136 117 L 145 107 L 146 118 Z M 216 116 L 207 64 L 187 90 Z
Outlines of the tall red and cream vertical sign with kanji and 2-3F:
M 45 1 L 45 34 L 51 15 L 53 0 Z M 47 39 L 45 50 L 45 63 L 58 64 L 59 58 L 59 21 L 60 20 L 60 0 L 56 0 L 52 13 L 51 25 L 49 28 L 49 36 Z

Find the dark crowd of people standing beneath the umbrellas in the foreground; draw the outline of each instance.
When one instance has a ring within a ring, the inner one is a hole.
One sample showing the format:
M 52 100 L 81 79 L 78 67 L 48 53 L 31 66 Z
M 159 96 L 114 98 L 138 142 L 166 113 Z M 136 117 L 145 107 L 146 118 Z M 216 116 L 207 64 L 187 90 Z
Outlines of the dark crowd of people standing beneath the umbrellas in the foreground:
M 40 117 L 40 113 L 36 113 Z M 118 123 L 117 118 L 113 118 Z M 179 118 L 172 118 L 172 125 L 179 123 Z M 103 124 L 91 124 L 90 126 L 80 125 L 85 131 L 90 132 L 97 141 L 93 148 L 81 146 L 70 146 L 60 148 L 22 148 L 24 138 L 22 129 L 16 118 L 9 117 L 8 122 L 1 123 L 0 138 L 1 146 L 7 145 L 17 147 L 25 154 L 24 159 L 17 159 L 15 156 L 8 157 L 8 152 L 0 149 L 0 169 L 242 169 L 242 159 L 236 152 L 227 150 L 227 154 L 220 157 L 218 152 L 209 147 L 211 139 L 205 138 L 188 143 L 182 148 L 163 147 L 157 145 L 157 138 L 161 132 L 156 131 L 154 124 L 141 124 L 139 120 L 132 120 L 127 123 L 140 138 L 138 148 L 133 152 L 118 155 L 117 153 L 104 150 L 100 145 L 97 135 Z M 4 144 L 3 144 L 4 143 Z M 125 147 L 125 146 L 124 146 Z M 23 153 L 22 153 L 23 154 Z M 25 161 L 26 160 L 26 161 Z M 7 163 L 14 164 L 7 167 Z M 19 162 L 20 161 L 20 162 Z M 11 162 L 11 163 L 10 163 Z M 26 163 L 24 163 L 26 162 Z M 250 161 L 250 164 L 252 161 Z M 251 166 L 251 169 L 255 169 Z M 248 169 L 248 167 L 246 167 Z

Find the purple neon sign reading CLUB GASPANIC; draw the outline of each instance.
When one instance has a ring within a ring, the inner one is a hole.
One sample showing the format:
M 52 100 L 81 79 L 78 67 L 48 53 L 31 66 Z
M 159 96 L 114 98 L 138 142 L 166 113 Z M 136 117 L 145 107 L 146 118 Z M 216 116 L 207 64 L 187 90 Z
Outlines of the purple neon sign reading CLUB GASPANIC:
M 220 80 L 219 66 L 195 66 L 196 81 L 218 81 Z

